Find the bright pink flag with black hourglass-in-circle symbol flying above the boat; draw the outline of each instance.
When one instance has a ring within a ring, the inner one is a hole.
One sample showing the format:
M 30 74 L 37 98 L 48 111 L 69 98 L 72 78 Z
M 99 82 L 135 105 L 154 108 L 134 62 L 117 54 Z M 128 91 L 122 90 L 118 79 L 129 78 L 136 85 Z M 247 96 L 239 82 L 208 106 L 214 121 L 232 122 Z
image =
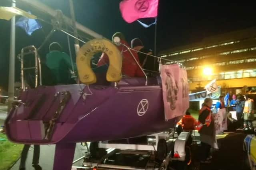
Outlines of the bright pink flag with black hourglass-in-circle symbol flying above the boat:
M 154 18 L 157 16 L 158 0 L 123 0 L 119 4 L 122 17 L 128 23 L 139 18 Z

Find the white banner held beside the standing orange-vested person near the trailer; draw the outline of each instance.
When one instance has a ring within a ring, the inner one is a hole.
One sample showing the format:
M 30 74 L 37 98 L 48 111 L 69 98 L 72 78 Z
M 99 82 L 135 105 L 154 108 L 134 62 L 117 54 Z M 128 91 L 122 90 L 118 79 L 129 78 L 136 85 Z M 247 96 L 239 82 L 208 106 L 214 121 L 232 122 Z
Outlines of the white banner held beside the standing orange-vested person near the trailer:
M 216 135 L 228 129 L 226 109 L 219 109 L 218 113 L 214 114 L 214 123 Z

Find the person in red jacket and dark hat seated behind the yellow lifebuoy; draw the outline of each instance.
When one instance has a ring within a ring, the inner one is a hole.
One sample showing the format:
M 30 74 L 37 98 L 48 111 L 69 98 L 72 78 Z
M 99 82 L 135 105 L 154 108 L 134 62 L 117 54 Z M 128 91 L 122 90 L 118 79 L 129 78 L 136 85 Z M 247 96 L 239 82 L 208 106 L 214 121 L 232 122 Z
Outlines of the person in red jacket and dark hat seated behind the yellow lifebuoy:
M 126 42 L 124 35 L 122 33 L 120 33 L 120 32 L 114 33 L 114 35 L 112 36 L 112 40 L 114 39 L 114 37 L 119 37 L 122 44 L 125 44 L 127 47 L 130 47 L 130 45 Z M 122 73 L 129 77 L 144 77 L 142 70 L 140 70 L 140 67 L 138 66 L 136 61 L 134 61 L 134 58 L 132 57 L 132 55 L 128 51 L 128 49 L 126 47 L 124 47 L 123 45 L 119 45 L 117 47 L 123 56 Z M 138 54 L 132 50 L 131 50 L 131 52 L 134 55 L 134 57 L 136 58 L 136 60 L 138 61 L 138 63 L 140 64 Z M 97 63 L 97 66 L 99 67 L 99 66 L 102 66 L 102 65 L 108 64 L 108 63 L 109 63 L 108 55 L 106 55 L 106 53 L 102 53 L 100 60 Z

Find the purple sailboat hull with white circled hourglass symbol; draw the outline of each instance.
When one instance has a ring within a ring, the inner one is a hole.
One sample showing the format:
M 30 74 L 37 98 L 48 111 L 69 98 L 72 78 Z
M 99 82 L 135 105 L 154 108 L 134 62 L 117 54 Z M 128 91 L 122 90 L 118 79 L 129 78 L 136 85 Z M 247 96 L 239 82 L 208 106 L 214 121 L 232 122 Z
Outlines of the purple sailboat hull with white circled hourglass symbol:
M 82 79 L 79 68 L 78 72 Z M 165 120 L 160 77 L 123 77 L 118 83 L 98 81 L 24 90 L 14 101 L 5 126 L 14 143 L 56 144 L 54 170 L 70 170 L 78 142 L 149 135 L 173 127 L 179 119 Z

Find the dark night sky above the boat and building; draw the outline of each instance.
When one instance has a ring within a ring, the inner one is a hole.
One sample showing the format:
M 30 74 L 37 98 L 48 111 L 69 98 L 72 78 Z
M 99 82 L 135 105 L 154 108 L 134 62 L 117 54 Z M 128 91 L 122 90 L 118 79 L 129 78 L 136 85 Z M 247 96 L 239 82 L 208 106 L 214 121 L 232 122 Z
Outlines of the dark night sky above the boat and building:
M 18 1 L 18 0 L 17 0 Z M 124 33 L 127 41 L 139 37 L 144 45 L 154 49 L 154 25 L 142 27 L 138 22 L 126 23 L 119 11 L 121 0 L 73 0 L 76 20 L 86 27 L 111 39 L 113 33 Z M 40 2 L 60 9 L 66 16 L 70 16 L 68 0 L 40 0 Z M 157 52 L 160 50 L 195 43 L 204 37 L 244 29 L 256 25 L 253 1 L 224 2 L 222 1 L 174 1 L 160 0 L 157 23 Z M 0 6 L 10 6 L 8 0 L 1 0 Z M 24 10 L 26 6 L 17 6 Z M 150 23 L 153 19 L 141 20 Z M 32 36 L 16 27 L 16 54 L 26 45 L 36 45 L 43 41 L 50 31 L 50 25 L 35 31 Z M 10 45 L 10 21 L 0 20 L 0 88 L 7 90 L 8 86 L 8 57 Z M 66 47 L 66 35 L 56 33 L 51 41 L 58 41 Z M 50 42 L 49 42 L 50 43 Z M 48 43 L 48 44 L 49 44 Z M 48 44 L 40 55 L 48 53 Z M 65 52 L 68 53 L 67 48 Z M 20 77 L 20 63 L 16 61 L 16 81 Z

